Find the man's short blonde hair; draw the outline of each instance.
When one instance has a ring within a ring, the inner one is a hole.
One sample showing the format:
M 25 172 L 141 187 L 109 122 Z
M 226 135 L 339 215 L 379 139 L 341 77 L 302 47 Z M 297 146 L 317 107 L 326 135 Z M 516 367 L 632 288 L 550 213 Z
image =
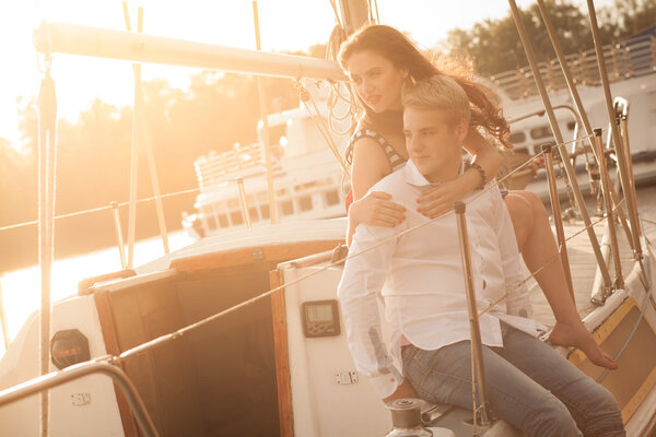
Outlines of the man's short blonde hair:
M 444 109 L 449 127 L 465 119 L 469 123 L 471 108 L 467 93 L 458 83 L 444 74 L 435 74 L 414 83 L 406 83 L 401 91 L 403 107 Z

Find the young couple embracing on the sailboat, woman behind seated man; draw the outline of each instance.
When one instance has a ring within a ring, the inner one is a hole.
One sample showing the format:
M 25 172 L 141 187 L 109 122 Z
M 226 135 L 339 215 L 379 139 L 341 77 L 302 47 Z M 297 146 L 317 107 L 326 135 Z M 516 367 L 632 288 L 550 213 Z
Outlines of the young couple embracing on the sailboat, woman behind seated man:
M 348 241 L 352 253 L 375 246 L 347 260 L 338 290 L 358 370 L 384 401 L 471 408 L 465 281 L 455 214 L 445 214 L 461 200 L 478 307 L 507 294 L 480 317 L 492 415 L 528 436 L 624 436 L 612 394 L 537 339 L 519 252 L 531 271 L 548 263 L 536 279 L 557 318 L 550 340 L 617 368 L 576 312 L 544 206 L 528 191 L 502 197 L 493 180 L 501 158 L 479 131 L 509 146 L 509 129 L 491 93 L 388 26 L 355 33 L 339 61 L 364 108 L 348 151 Z M 475 156 L 467 168 L 462 147 Z

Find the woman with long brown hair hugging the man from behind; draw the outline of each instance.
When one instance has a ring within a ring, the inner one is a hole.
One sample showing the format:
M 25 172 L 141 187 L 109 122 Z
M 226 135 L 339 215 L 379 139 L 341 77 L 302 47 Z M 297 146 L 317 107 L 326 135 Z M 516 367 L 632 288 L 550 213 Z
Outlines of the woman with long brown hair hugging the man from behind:
M 371 25 L 353 34 L 342 45 L 339 62 L 351 79 L 364 108 L 347 152 L 347 158 L 352 164 L 354 200 L 349 209 L 348 241 L 359 223 L 396 226 L 405 220 L 403 208 L 390 201 L 388 194 L 365 194 L 374 184 L 408 158 L 401 106 L 401 86 L 406 81 L 448 74 L 466 91 L 472 107 L 473 128 L 464 145 L 475 156 L 472 166 L 458 179 L 424 191 L 418 200 L 418 211 L 427 217 L 436 217 L 449 211 L 454 201 L 481 189 L 494 177 L 501 156 L 476 128 L 482 128 L 504 146 L 511 146 L 505 140 L 509 128 L 491 92 L 473 83 L 470 72 L 462 68 L 459 71 L 449 69 L 448 73 L 441 72 L 403 34 L 384 25 Z M 578 347 L 598 366 L 617 368 L 617 364 L 599 347 L 581 321 L 569 293 L 562 263 L 557 257 L 558 248 L 549 216 L 540 199 L 530 191 L 511 191 L 504 200 L 527 268 L 536 272 L 549 262 L 535 277 L 557 319 L 550 341 Z

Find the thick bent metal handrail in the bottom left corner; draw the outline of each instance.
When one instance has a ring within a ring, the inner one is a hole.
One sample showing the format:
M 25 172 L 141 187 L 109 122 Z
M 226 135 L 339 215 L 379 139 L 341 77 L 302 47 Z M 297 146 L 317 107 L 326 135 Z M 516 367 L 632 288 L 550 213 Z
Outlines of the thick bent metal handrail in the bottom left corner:
M 114 383 L 126 395 L 143 435 L 145 437 L 159 436 L 157 429 L 148 414 L 148 410 L 139 397 L 137 388 L 125 371 L 112 364 L 115 359 L 116 357 L 110 355 L 103 356 L 95 361 L 75 364 L 62 370 L 51 371 L 17 386 L 10 387 L 0 391 L 0 408 L 91 374 L 105 374 L 114 380 Z

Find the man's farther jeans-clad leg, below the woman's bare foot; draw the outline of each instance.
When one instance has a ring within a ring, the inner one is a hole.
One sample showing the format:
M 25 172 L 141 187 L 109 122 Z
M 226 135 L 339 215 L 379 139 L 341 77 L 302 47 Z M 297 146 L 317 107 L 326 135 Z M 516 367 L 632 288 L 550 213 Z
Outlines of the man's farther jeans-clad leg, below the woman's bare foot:
M 504 347 L 499 354 L 560 399 L 586 437 L 626 435 L 618 404 L 606 388 L 539 339 L 502 327 Z

